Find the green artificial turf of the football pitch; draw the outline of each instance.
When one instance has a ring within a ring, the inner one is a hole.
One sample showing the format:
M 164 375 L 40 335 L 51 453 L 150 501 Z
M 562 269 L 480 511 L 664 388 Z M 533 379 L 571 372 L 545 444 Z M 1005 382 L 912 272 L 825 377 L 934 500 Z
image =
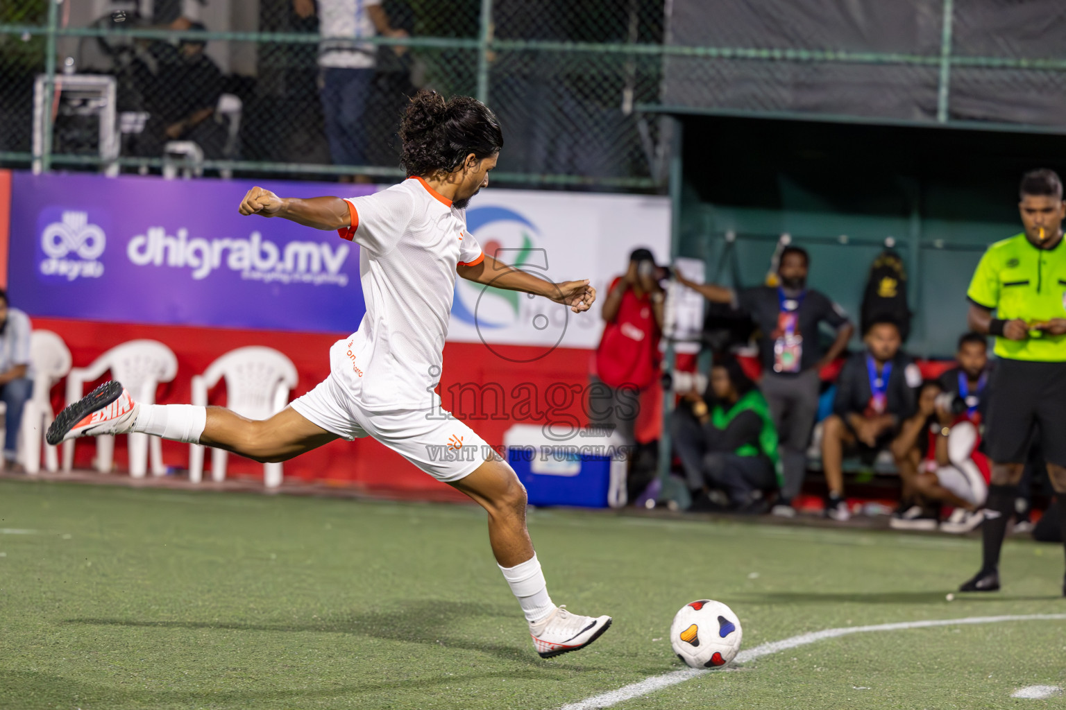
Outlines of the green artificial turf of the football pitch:
M 544 661 L 480 509 L 0 482 L 0 708 L 558 708 L 681 667 L 681 605 L 744 647 L 825 628 L 1066 612 L 1063 552 L 1011 541 L 1005 590 L 946 593 L 976 540 L 537 510 L 556 604 L 612 614 Z M 617 707 L 1019 708 L 1066 687 L 1066 621 L 855 634 Z

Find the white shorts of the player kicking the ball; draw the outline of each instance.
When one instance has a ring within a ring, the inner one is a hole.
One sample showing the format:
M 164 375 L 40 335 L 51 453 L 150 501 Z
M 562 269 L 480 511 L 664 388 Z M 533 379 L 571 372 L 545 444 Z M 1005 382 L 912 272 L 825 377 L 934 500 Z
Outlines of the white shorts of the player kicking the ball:
M 446 483 L 468 476 L 494 456 L 485 440 L 443 409 L 368 410 L 332 374 L 291 406 L 348 441 L 373 436 Z

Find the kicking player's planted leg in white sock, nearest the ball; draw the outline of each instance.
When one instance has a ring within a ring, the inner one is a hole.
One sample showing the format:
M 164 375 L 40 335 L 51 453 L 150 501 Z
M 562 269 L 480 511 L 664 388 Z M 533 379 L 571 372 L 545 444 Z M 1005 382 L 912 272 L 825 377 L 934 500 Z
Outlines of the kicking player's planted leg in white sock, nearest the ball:
M 610 616 L 581 616 L 552 604 L 526 529 L 526 489 L 511 466 L 490 459 L 452 485 L 488 512 L 492 554 L 522 607 L 540 658 L 584 648 L 608 630 Z

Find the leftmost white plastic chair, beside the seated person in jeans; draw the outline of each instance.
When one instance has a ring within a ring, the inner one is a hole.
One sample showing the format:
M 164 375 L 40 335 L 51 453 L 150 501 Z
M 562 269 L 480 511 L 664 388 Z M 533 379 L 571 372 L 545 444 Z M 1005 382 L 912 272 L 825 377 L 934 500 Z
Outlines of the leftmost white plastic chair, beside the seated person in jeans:
M 45 431 L 55 418 L 50 393 L 52 385 L 70 371 L 70 350 L 63 339 L 50 330 L 30 334 L 30 362 L 33 367 L 33 395 L 22 410 L 18 430 L 18 451 L 28 474 L 41 470 L 41 448 L 45 449 L 45 468 L 60 469 L 55 447 L 45 444 Z

